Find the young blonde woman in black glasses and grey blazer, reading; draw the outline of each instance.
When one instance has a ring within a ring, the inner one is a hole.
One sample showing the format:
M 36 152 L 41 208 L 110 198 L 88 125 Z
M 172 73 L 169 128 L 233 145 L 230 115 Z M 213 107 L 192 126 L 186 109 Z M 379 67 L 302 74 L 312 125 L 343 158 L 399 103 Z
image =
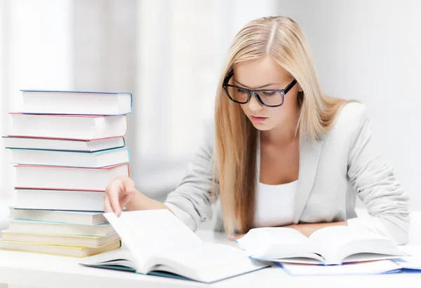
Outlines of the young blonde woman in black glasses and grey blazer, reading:
M 370 217 L 356 217 L 356 196 Z M 165 203 L 118 177 L 107 186 L 105 212 L 164 208 L 194 230 L 218 199 L 216 228 L 230 238 L 260 226 L 310 235 L 348 225 L 408 242 L 408 197 L 373 146 L 366 108 L 323 94 L 290 18 L 253 20 L 236 35 L 215 120 Z

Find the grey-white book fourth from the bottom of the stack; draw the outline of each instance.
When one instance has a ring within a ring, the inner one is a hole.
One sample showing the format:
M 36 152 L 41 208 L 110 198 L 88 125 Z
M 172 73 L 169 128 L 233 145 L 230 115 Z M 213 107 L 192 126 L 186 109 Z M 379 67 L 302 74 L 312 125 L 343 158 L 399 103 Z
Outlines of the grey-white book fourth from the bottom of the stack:
M 97 193 L 97 192 L 95 192 Z M 95 225 L 107 222 L 102 212 L 32 210 L 10 207 L 9 217 L 69 224 Z

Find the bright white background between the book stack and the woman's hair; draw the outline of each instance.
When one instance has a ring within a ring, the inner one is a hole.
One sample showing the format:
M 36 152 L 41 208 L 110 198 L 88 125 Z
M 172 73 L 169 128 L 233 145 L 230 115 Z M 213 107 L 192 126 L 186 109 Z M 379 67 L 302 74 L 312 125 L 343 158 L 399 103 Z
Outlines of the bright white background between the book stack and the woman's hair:
M 213 114 L 216 85 L 236 32 L 276 13 L 276 1 L 138 2 L 136 143 L 131 171 L 140 191 L 162 199 L 187 171 Z M 131 127 L 131 128 L 130 128 Z

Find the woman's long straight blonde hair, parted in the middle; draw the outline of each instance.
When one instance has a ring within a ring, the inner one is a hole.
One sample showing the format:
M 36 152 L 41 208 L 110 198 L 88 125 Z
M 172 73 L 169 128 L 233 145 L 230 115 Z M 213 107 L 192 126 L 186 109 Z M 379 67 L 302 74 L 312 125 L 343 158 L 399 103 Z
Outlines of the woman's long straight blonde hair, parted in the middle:
M 302 88 L 297 134 L 320 139 L 347 100 L 321 91 L 307 39 L 298 24 L 286 17 L 249 22 L 236 34 L 220 76 L 215 100 L 215 177 L 218 177 L 226 233 L 253 228 L 258 132 L 239 104 L 222 88 L 225 76 L 241 62 L 267 56 L 288 71 Z

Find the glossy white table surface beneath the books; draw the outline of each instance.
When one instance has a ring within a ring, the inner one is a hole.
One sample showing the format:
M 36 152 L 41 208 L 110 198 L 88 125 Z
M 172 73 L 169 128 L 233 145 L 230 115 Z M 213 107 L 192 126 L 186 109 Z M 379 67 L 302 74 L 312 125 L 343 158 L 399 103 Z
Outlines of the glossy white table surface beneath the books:
M 206 242 L 236 246 L 222 233 L 201 230 Z M 407 247 L 421 254 L 420 246 Z M 212 284 L 138 275 L 115 270 L 79 266 L 81 259 L 0 250 L 0 283 L 9 287 L 420 287 L 421 273 L 358 276 L 290 276 L 271 267 Z

